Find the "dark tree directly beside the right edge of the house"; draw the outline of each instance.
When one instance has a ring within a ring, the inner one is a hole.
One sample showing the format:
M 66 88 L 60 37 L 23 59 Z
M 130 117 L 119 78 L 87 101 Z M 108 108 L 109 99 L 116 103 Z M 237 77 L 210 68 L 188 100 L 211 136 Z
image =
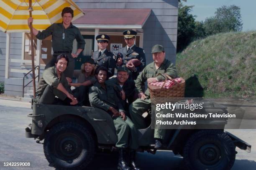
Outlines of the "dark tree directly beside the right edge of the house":
M 179 4 L 177 51 L 182 51 L 195 36 L 195 15 L 190 14 L 193 6 Z

